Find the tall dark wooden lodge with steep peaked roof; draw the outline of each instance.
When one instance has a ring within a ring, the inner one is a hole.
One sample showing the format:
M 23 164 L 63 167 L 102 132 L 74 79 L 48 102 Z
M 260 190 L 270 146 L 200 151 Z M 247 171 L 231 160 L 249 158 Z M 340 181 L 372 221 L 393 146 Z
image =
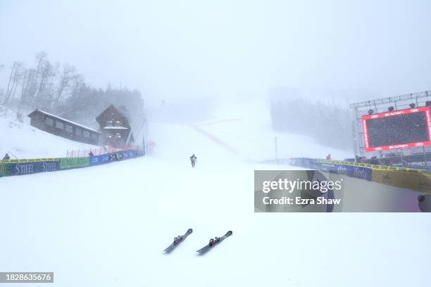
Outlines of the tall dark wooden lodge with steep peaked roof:
M 108 106 L 96 117 L 96 122 L 99 123 L 104 144 L 126 146 L 135 142 L 129 120 L 115 106 Z

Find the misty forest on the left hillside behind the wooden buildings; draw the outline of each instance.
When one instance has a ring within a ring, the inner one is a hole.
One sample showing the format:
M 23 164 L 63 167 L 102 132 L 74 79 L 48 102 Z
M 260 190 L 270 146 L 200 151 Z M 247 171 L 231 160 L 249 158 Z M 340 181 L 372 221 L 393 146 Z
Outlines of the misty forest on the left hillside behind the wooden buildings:
M 139 127 L 144 120 L 144 99 L 137 89 L 90 87 L 77 68 L 52 63 L 43 51 L 36 53 L 31 65 L 15 61 L 10 70 L 4 65 L 0 69 L 8 72 L 7 82 L 0 83 L 0 105 L 15 110 L 18 120 L 38 108 L 95 127 L 94 118 L 111 103 L 132 126 Z

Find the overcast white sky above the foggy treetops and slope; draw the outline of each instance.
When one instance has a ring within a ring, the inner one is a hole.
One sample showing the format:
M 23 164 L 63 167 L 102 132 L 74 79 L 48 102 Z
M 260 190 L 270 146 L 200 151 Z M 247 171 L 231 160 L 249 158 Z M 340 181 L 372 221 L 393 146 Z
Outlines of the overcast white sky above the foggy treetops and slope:
M 431 89 L 431 1 L 0 1 L 0 87 L 37 51 L 156 98 Z M 365 94 L 364 99 L 369 95 Z

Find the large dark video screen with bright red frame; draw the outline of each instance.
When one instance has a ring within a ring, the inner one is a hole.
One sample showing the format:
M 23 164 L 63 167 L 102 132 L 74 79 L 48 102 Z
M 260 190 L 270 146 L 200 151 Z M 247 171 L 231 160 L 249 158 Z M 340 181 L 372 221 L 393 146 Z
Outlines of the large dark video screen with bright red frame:
M 365 151 L 431 146 L 430 107 L 363 115 Z

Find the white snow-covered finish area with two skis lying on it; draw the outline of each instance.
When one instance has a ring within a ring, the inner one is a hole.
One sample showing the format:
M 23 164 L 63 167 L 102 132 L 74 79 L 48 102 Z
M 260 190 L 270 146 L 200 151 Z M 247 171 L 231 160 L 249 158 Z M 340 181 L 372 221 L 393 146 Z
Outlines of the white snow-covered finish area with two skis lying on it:
M 0 271 L 55 272 L 62 287 L 430 286 L 425 214 L 254 213 L 254 170 L 296 167 L 254 162 L 272 149 L 227 122 L 153 124 L 154 155 L 1 178 Z

